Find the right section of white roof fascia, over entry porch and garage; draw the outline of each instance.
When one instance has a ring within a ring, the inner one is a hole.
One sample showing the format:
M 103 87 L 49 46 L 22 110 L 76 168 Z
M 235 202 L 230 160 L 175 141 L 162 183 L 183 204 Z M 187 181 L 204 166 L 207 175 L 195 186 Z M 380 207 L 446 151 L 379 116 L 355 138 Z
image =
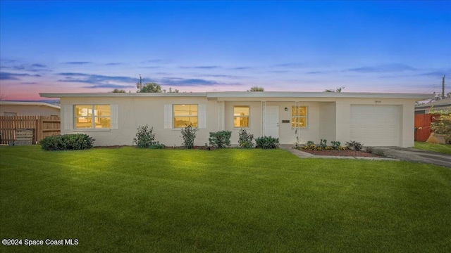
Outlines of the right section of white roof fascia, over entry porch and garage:
M 354 92 L 287 92 L 287 91 L 245 91 L 207 92 L 207 98 L 411 98 L 428 99 L 433 94 L 424 93 L 354 93 Z

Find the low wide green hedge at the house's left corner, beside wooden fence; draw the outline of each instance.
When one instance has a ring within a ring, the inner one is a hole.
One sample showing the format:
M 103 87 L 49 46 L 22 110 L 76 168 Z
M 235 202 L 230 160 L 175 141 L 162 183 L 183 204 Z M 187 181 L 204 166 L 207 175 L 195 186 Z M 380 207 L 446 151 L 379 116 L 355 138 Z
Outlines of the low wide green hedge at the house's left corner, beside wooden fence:
M 84 150 L 92 148 L 94 138 L 87 134 L 65 134 L 47 136 L 39 141 L 43 150 Z

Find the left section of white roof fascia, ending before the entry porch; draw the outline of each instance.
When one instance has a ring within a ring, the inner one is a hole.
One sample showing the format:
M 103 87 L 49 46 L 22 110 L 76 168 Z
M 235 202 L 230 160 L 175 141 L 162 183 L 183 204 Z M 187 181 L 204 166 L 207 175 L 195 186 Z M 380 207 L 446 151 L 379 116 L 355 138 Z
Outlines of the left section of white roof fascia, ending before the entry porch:
M 206 97 L 206 93 L 39 93 L 42 98 Z

